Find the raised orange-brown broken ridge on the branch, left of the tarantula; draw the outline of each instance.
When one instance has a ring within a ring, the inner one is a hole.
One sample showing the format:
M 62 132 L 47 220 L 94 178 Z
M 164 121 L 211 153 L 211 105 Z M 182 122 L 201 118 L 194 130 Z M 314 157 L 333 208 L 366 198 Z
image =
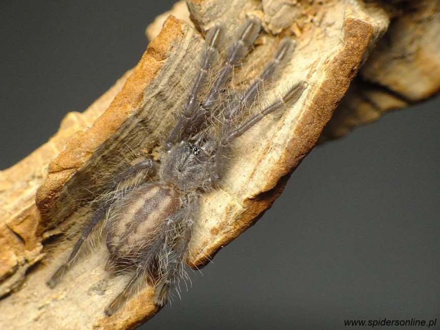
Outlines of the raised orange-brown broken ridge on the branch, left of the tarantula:
M 180 33 L 182 23 L 175 19 L 164 25 L 164 33 L 153 41 L 133 74 L 126 80 L 124 87 L 115 96 L 108 109 L 96 119 L 86 131 L 75 133 L 67 142 L 58 157 L 49 163 L 46 181 L 38 188 L 36 203 L 41 213 L 40 232 L 53 224 L 54 205 L 60 197 L 68 179 L 92 156 L 96 149 L 108 140 L 124 124 L 127 117 L 133 115 L 141 106 L 143 91 L 157 76 L 162 62 L 173 40 Z

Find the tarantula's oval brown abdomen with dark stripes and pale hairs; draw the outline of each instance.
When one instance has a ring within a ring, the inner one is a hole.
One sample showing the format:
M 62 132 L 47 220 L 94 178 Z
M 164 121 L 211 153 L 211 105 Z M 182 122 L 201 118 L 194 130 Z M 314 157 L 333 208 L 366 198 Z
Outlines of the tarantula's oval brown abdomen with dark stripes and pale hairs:
M 110 259 L 137 264 L 160 244 L 166 220 L 181 206 L 179 193 L 167 184 L 148 183 L 127 194 L 105 222 Z

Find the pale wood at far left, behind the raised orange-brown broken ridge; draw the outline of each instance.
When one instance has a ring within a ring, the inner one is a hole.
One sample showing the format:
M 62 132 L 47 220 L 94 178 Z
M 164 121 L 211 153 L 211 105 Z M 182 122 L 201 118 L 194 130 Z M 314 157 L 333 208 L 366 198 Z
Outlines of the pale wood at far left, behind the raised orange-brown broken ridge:
M 92 125 L 130 75 L 131 70 L 84 112 L 68 113 L 47 143 L 14 166 L 0 171 L 3 188 L 0 194 L 0 297 L 19 289 L 27 269 L 41 260 L 42 237 L 37 230 L 40 213 L 35 194 L 46 176 L 48 163 L 60 153 L 72 134 Z

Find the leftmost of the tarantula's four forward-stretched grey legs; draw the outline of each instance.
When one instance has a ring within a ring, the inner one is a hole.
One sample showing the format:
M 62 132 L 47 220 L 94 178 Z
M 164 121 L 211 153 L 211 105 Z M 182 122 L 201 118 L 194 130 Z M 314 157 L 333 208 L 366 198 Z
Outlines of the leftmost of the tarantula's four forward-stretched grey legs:
M 178 123 L 174 126 L 171 133 L 169 134 L 167 143 L 165 145 L 167 150 L 171 148 L 173 143 L 181 140 L 182 136 L 186 134 L 185 132 L 191 125 L 192 116 L 194 112 L 197 111 L 197 107 L 199 106 L 198 97 L 208 79 L 211 65 L 215 62 L 216 56 L 218 54 L 222 34 L 223 27 L 221 25 L 214 26 L 207 34 L 204 44 L 204 47 L 206 49 L 204 49 L 203 52 L 204 58 L 200 67 L 200 71 L 197 78 L 195 79 L 194 85 L 191 88 L 191 93 L 184 107 L 184 111 L 179 118 Z

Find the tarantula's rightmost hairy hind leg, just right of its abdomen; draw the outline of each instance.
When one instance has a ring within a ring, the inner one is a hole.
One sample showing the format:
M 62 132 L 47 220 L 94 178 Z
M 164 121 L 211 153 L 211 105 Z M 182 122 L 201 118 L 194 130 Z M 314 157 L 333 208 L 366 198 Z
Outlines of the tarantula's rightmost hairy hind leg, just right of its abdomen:
M 188 196 L 188 206 L 185 209 L 185 215 L 180 223 L 178 239 L 174 239 L 172 250 L 166 256 L 167 262 L 162 265 L 162 277 L 156 288 L 155 304 L 164 306 L 169 298 L 173 288 L 179 283 L 183 277 L 185 266 L 185 254 L 191 239 L 192 227 L 197 217 L 199 208 L 199 195 L 193 194 Z

